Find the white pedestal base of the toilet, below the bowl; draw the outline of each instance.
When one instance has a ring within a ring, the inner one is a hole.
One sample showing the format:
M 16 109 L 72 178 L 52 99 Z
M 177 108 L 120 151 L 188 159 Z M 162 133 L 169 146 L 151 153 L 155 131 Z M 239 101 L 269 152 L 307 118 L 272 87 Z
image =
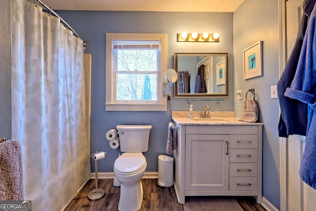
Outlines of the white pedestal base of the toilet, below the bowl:
M 120 184 L 119 211 L 138 211 L 142 201 L 143 186 L 140 180 L 133 184 Z

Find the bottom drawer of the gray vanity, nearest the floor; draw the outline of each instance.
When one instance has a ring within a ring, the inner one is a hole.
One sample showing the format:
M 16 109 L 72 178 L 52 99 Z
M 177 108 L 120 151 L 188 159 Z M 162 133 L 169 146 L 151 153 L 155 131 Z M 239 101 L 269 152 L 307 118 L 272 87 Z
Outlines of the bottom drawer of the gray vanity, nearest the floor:
M 229 177 L 229 190 L 244 190 L 256 191 L 258 190 L 258 177 L 256 176 L 233 176 Z

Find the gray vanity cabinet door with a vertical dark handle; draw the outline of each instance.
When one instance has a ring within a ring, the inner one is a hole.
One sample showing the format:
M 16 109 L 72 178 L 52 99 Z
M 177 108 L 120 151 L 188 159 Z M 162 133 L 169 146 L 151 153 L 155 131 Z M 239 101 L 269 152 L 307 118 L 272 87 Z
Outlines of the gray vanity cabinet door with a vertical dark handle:
M 227 191 L 229 135 L 187 134 L 185 190 Z

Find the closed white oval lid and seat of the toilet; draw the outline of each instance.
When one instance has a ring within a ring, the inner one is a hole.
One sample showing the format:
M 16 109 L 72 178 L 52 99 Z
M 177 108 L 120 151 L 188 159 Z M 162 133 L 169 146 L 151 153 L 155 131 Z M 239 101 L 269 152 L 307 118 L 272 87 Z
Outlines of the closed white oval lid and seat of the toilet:
M 114 167 L 120 174 L 133 174 L 144 169 L 146 158 L 142 153 L 123 153 L 117 158 Z

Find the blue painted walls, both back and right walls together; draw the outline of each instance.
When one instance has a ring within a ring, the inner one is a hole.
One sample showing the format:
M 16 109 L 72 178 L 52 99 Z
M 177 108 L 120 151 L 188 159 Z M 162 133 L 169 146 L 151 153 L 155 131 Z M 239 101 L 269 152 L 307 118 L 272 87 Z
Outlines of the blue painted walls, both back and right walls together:
M 99 162 L 100 172 L 113 172 L 120 151 L 110 149 L 105 133 L 118 124 L 150 124 L 149 150 L 144 153 L 147 171 L 158 170 L 158 155 L 165 154 L 167 112 L 106 112 L 105 111 L 105 33 L 166 33 L 168 35 L 167 67 L 173 67 L 176 52 L 230 53 L 229 98 L 220 106 L 212 101 L 195 101 L 194 110 L 209 105 L 213 111 L 235 111 L 243 114 L 245 93 L 255 88 L 263 130 L 263 196 L 279 209 L 279 143 L 277 124 L 278 100 L 271 99 L 270 86 L 278 81 L 278 5 L 275 0 L 245 0 L 234 13 L 209 12 L 115 12 L 115 11 L 58 11 L 79 36 L 87 42 L 86 52 L 92 54 L 91 152 L 108 152 Z M 219 32 L 220 42 L 177 42 L 176 34 L 187 32 Z M 242 51 L 263 41 L 263 76 L 244 80 Z M 235 97 L 243 90 L 243 99 Z M 186 98 L 172 98 L 172 111 L 187 111 Z M 92 171 L 94 171 L 94 164 Z

